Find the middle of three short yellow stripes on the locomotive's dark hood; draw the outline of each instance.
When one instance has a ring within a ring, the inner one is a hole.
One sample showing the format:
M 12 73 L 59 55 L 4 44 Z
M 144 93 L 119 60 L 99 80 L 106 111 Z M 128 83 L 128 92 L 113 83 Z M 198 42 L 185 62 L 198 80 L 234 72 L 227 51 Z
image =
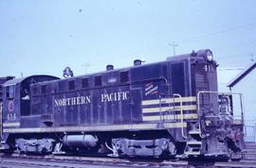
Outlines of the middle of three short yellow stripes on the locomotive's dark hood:
M 187 106 L 182 106 L 183 110 L 196 110 L 196 105 L 187 105 Z M 161 110 L 160 108 L 145 108 L 142 109 L 143 113 L 147 112 L 159 112 L 159 111 L 167 111 L 167 110 L 180 110 L 180 106 L 174 106 L 174 107 L 162 107 Z

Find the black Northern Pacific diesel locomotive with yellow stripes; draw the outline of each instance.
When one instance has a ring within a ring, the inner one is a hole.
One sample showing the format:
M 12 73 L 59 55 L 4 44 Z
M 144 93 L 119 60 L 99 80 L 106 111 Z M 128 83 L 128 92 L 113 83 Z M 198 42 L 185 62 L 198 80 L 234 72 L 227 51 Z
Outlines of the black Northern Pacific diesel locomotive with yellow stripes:
M 3 84 L 3 150 L 119 157 L 228 157 L 243 121 L 219 110 L 209 49 L 165 61 Z M 241 135 L 241 134 L 240 134 Z

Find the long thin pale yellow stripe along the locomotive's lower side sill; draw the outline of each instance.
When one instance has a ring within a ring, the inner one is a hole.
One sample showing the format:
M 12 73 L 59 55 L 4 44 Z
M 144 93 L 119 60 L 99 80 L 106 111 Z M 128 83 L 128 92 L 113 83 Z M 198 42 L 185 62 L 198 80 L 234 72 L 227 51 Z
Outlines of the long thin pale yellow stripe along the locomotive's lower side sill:
M 182 127 L 181 123 L 164 123 L 167 128 Z M 183 123 L 183 127 L 187 126 Z M 5 133 L 25 133 L 25 132 L 79 132 L 79 131 L 114 131 L 131 129 L 157 129 L 158 123 L 137 124 L 137 125 L 105 125 L 105 126 L 62 126 L 62 127 L 38 127 L 38 128 L 4 128 Z

